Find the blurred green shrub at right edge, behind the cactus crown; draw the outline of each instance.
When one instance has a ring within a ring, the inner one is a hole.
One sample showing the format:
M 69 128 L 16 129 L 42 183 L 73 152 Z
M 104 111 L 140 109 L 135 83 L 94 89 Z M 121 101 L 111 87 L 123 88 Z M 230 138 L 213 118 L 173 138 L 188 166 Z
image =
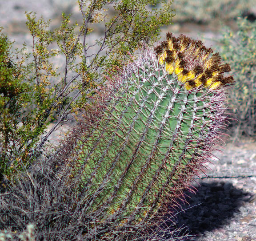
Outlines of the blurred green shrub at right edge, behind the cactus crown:
M 256 135 L 256 22 L 240 18 L 236 32 L 227 28 L 220 40 L 220 55 L 236 79 L 230 92 L 230 127 L 234 139 Z

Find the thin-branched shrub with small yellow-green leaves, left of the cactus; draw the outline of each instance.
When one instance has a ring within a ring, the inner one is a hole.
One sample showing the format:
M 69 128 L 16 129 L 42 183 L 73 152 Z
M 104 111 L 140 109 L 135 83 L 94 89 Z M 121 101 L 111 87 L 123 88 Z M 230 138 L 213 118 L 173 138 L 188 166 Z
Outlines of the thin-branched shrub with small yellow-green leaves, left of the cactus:
M 162 8 L 151 6 L 160 3 Z M 40 155 L 49 135 L 103 83 L 102 73 L 121 67 L 138 47 L 154 42 L 160 26 L 172 19 L 171 2 L 163 0 L 78 4 L 83 23 L 72 25 L 63 13 L 60 27 L 52 31 L 50 21 L 27 13 L 31 55 L 25 47 L 13 53 L 7 36 L 0 36 L 0 182 Z M 99 23 L 104 32 L 92 44 L 88 38 Z M 61 70 L 53 64 L 58 55 L 64 56 Z M 51 121 L 55 125 L 45 134 Z

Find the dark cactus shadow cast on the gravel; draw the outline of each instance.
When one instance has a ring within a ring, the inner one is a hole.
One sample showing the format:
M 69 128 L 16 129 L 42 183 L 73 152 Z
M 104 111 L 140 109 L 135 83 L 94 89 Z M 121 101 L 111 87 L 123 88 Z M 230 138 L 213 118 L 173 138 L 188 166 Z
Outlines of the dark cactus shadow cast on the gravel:
M 180 208 L 170 209 L 170 214 L 176 214 L 165 222 L 170 228 L 183 228 L 178 236 L 193 236 L 186 241 L 196 240 L 205 232 L 228 224 L 251 197 L 250 193 L 235 188 L 231 182 L 200 182 L 195 187 L 196 194 L 185 192 L 189 204 L 180 203 Z

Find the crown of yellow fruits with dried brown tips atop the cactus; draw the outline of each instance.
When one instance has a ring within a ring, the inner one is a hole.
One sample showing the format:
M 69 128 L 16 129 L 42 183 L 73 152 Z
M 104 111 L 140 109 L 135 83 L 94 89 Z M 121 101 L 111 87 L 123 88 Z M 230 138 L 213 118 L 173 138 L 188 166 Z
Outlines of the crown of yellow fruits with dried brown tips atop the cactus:
M 200 40 L 184 35 L 176 38 L 167 33 L 167 40 L 155 51 L 166 71 L 176 74 L 187 90 L 200 85 L 215 89 L 233 82 L 232 76 L 224 76 L 231 70 L 229 64 L 222 64 L 219 53 L 212 54 L 212 48 L 205 47 Z

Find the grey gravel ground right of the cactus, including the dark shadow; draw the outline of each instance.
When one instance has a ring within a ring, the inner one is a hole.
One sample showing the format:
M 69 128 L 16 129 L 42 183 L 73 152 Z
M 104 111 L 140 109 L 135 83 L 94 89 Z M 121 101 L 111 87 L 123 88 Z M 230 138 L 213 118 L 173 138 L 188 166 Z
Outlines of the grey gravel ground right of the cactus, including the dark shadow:
M 209 178 L 196 180 L 196 194 L 186 193 L 173 221 L 188 227 L 194 238 L 186 240 L 256 241 L 256 142 L 228 143 L 215 154 Z

